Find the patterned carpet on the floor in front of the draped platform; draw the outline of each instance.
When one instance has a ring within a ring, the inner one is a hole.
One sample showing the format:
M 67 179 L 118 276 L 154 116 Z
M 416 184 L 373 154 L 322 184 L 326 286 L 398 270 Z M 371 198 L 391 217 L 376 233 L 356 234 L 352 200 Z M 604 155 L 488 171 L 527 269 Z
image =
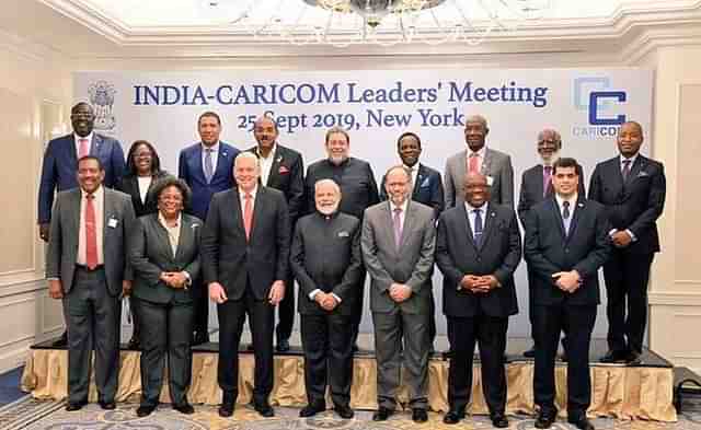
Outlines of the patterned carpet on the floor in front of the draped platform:
M 136 404 L 119 404 L 116 410 L 105 411 L 91 404 L 79 412 L 67 412 L 64 404 L 56 402 L 38 402 L 25 396 L 0 408 L 0 429 L 14 430 L 410 430 L 410 429 L 456 429 L 481 430 L 492 429 L 487 417 L 469 417 L 457 426 L 443 423 L 443 416 L 429 414 L 429 421 L 424 425 L 412 422 L 407 412 L 397 414 L 384 423 L 372 422 L 371 411 L 356 411 L 353 420 L 342 420 L 326 411 L 311 419 L 298 418 L 299 409 L 276 408 L 276 417 L 262 419 L 249 407 L 238 407 L 233 418 L 223 419 L 217 415 L 215 407 L 196 406 L 196 412 L 184 416 L 172 410 L 169 405 L 161 405 L 149 417 L 136 416 Z M 532 417 L 510 416 L 510 429 L 533 429 Z M 597 430 L 701 430 L 701 396 L 685 400 L 683 412 L 676 423 L 651 421 L 621 421 L 607 418 L 593 420 Z M 559 420 L 554 430 L 572 430 L 573 426 Z

